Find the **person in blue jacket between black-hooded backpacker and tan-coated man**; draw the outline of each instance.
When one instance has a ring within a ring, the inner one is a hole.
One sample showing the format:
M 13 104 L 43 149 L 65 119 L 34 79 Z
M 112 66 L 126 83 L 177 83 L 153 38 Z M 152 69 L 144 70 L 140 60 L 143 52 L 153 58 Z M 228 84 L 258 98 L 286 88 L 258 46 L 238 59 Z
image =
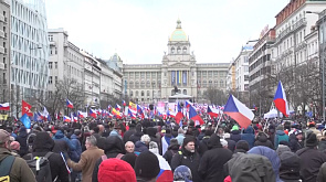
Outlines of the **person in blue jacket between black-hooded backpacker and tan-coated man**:
M 62 132 L 62 130 L 57 130 L 55 132 L 55 135 L 52 137 L 52 139 L 54 140 L 54 148 L 53 148 L 53 152 L 55 153 L 60 153 L 60 152 L 64 152 L 64 153 L 69 153 L 69 151 L 73 151 L 76 150 L 76 146 L 74 146 L 71 140 L 69 140 L 64 133 Z

